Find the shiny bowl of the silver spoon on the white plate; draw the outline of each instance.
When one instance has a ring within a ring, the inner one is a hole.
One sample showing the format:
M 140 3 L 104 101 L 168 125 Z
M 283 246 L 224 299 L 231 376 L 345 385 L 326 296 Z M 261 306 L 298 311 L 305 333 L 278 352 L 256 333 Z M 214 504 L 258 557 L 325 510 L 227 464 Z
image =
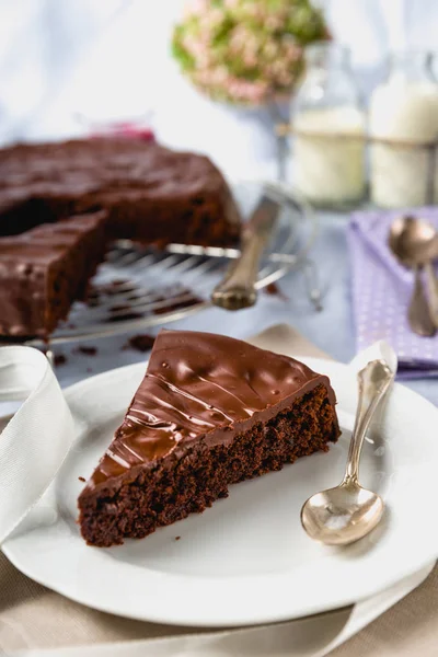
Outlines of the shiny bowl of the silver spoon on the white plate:
M 362 539 L 380 522 L 383 500 L 353 482 L 312 495 L 301 509 L 310 538 L 327 545 L 348 545 Z

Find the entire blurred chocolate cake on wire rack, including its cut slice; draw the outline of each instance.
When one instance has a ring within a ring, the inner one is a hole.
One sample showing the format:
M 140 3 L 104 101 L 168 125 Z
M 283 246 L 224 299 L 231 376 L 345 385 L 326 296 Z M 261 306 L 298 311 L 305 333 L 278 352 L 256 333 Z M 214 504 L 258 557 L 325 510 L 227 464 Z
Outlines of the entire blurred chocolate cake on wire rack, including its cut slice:
M 239 234 L 237 206 L 208 158 L 116 137 L 2 149 L 0 336 L 47 336 L 110 240 L 228 246 Z

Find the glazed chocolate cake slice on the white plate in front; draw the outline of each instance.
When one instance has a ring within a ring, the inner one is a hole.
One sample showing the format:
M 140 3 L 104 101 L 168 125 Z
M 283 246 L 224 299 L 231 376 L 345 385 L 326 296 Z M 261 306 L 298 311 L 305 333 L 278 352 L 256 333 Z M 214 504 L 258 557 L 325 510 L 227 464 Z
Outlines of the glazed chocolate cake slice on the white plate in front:
M 79 497 L 82 535 L 97 546 L 146 537 L 338 436 L 327 377 L 230 337 L 162 331 Z

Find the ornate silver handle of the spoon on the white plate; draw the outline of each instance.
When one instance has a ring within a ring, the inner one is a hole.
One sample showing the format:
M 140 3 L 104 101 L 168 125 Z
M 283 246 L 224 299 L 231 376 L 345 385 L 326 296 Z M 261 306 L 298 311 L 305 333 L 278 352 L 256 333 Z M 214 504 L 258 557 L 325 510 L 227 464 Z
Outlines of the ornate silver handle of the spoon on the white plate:
M 359 460 L 365 434 L 374 412 L 387 394 L 394 374 L 384 360 L 371 360 L 371 362 L 358 372 L 357 379 L 359 384 L 359 402 L 343 484 L 358 484 Z

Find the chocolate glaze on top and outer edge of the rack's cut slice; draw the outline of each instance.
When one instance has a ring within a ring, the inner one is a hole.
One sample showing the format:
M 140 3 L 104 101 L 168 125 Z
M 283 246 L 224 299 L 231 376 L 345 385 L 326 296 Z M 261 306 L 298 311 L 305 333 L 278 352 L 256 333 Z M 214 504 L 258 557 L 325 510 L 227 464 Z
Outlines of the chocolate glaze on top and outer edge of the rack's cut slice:
M 106 212 L 100 211 L 0 238 L 0 334 L 46 334 L 50 298 L 56 295 L 50 285 L 57 285 L 50 277 L 64 263 L 72 266 L 71 250 L 82 249 L 83 240 L 105 222 Z

